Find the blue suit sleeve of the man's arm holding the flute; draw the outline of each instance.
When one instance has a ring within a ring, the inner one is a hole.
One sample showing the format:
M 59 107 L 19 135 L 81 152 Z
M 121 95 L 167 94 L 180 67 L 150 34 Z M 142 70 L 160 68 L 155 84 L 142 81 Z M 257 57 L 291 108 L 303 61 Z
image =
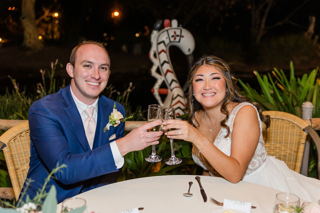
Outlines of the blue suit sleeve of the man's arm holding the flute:
M 56 179 L 67 185 L 118 171 L 109 143 L 85 152 L 73 130 L 83 128 L 83 125 L 72 126 L 68 123 L 69 118 L 61 119 L 67 117 L 67 114 L 63 115 L 63 109 L 57 115 L 54 108 L 46 105 L 37 101 L 29 110 L 30 138 L 36 148 L 31 156 L 38 154 L 49 171 L 66 164 L 66 168 L 54 174 Z M 118 127 L 116 134 L 123 137 L 124 124 Z

